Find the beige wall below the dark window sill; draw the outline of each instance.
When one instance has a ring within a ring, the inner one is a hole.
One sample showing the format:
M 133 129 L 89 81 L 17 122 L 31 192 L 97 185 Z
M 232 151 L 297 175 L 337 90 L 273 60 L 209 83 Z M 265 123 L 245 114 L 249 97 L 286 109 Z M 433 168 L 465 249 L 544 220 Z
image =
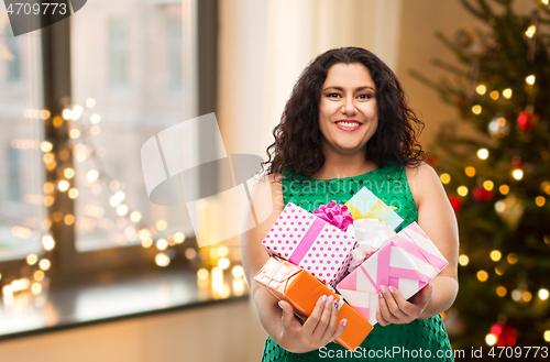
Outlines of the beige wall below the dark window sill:
M 0 342 L 2 362 L 252 362 L 266 338 L 249 301 Z

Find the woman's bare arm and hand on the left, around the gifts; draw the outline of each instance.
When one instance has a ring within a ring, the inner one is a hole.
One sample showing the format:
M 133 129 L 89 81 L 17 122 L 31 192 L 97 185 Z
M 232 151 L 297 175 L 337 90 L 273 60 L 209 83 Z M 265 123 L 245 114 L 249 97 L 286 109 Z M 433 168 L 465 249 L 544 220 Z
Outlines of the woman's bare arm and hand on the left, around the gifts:
M 278 301 L 265 287 L 254 282 L 254 276 L 267 262 L 268 255 L 262 241 L 284 209 L 282 184 L 270 175 L 260 180 L 252 190 L 252 205 L 260 219 L 266 219 L 241 235 L 241 254 L 260 321 L 265 331 L 285 350 L 296 353 L 309 352 L 339 338 L 345 321 L 338 323 L 338 309 L 332 297 L 320 298 L 304 325 L 294 316 L 287 301 Z M 254 220 L 243 221 L 243 230 L 254 226 Z

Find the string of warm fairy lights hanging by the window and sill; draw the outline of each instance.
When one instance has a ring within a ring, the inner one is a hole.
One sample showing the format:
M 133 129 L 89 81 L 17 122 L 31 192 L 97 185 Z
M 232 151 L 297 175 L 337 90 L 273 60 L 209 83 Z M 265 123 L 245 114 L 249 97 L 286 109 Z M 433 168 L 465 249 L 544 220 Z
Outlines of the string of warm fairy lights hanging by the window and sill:
M 100 195 L 103 191 L 101 184 L 108 186 L 109 206 L 114 210 L 118 218 L 116 222 L 106 217 L 106 208 L 97 204 L 87 204 L 84 206 L 84 215 L 77 218 L 72 213 L 63 213 L 55 211 L 51 219 L 44 219 L 40 222 L 40 231 L 33 231 L 29 227 L 14 226 L 12 233 L 20 238 L 40 239 L 42 234 L 41 255 L 31 253 L 26 256 L 26 264 L 33 268 L 31 275 L 18 277 L 2 286 L 2 295 L 4 303 L 13 301 L 18 293 L 30 290 L 32 295 L 38 296 L 43 293 L 48 284 L 47 271 L 52 267 L 52 262 L 47 257 L 56 241 L 51 234 L 52 222 L 64 222 L 66 226 L 75 226 L 78 230 L 90 232 L 96 226 L 103 229 L 123 228 L 122 233 L 114 233 L 111 241 L 121 245 L 140 240 L 141 246 L 144 249 L 157 249 L 154 257 L 156 265 L 166 267 L 170 260 L 177 254 L 173 246 L 183 244 L 186 235 L 182 231 L 168 233 L 168 223 L 165 220 L 157 220 L 154 226 L 143 224 L 142 213 L 138 210 L 132 210 L 128 202 L 127 194 L 123 191 L 123 183 L 111 177 L 103 167 L 101 158 L 106 155 L 105 147 L 96 147 L 91 142 L 92 136 L 97 136 L 100 132 L 101 117 L 97 112 L 92 112 L 96 106 L 96 100 L 92 98 L 86 99 L 85 107 L 76 105 L 72 108 L 65 108 L 61 116 L 53 118 L 52 124 L 54 128 L 59 128 L 64 123 L 68 123 L 69 131 L 68 142 L 65 143 L 62 150 L 54 151 L 54 144 L 48 140 L 38 142 L 37 140 L 13 140 L 12 147 L 19 149 L 40 149 L 42 152 L 42 161 L 48 172 L 56 172 L 57 179 L 44 183 L 42 189 L 43 195 L 28 194 L 24 197 L 25 202 L 33 205 L 44 205 L 52 207 L 55 198 L 59 193 L 64 193 L 68 198 L 76 200 L 82 195 L 82 188 L 89 188 L 92 195 Z M 85 122 L 84 114 L 90 111 L 91 114 L 86 117 L 88 122 Z M 24 110 L 25 119 L 47 120 L 51 117 L 47 110 Z M 56 157 L 57 154 L 57 157 Z M 68 163 L 70 155 L 77 163 L 84 163 L 90 157 L 95 161 L 94 167 L 86 171 L 85 182 L 76 186 L 77 172 Z M 85 201 L 86 202 L 86 201 Z M 240 260 L 240 254 L 230 255 L 228 246 L 210 245 L 201 248 L 198 252 L 195 248 L 185 249 L 185 256 L 190 260 L 200 260 L 205 267 L 197 272 L 197 283 L 199 287 L 205 288 L 211 283 L 213 297 L 227 298 L 231 294 L 242 295 L 244 292 L 244 272 L 241 265 L 235 263 Z M 223 282 L 223 273 L 231 264 L 235 264 L 232 270 L 233 285 L 232 288 Z M 213 266 L 213 267 L 212 267 Z M 209 271 L 208 267 L 212 267 Z M 2 275 L 0 274 L 0 281 Z

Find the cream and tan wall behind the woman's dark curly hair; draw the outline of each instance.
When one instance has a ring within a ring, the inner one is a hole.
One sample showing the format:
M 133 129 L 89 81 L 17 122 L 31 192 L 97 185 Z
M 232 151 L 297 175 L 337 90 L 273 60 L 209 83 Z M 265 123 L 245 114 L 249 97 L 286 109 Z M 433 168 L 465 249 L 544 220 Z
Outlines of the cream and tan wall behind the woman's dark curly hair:
M 397 64 L 402 0 L 219 3 L 217 116 L 228 153 L 265 156 L 293 85 L 316 55 L 353 45 Z

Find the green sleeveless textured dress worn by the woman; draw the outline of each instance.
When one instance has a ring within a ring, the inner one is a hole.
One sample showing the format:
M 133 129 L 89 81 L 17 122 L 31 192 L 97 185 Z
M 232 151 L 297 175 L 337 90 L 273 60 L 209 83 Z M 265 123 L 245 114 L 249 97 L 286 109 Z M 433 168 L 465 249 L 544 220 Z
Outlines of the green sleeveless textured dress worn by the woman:
M 396 206 L 405 220 L 403 227 L 418 220 L 413 195 L 408 188 L 405 166 L 388 162 L 370 173 L 334 179 L 306 179 L 301 176 L 283 176 L 285 205 L 293 202 L 314 212 L 330 200 L 344 204 L 363 186 L 386 205 Z M 375 325 L 374 329 L 354 353 L 336 342 L 308 353 L 284 350 L 271 337 L 264 345 L 263 362 L 284 361 L 453 361 L 449 338 L 441 317 L 416 319 L 408 325 Z

